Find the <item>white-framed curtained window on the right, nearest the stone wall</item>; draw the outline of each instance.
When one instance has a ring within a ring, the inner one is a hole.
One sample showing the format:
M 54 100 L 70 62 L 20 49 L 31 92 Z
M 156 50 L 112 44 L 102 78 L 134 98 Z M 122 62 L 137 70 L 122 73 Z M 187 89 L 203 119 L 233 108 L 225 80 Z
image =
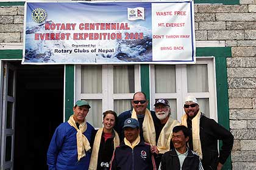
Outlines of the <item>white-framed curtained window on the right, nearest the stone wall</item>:
M 183 98 L 193 95 L 207 117 L 217 119 L 214 58 L 197 58 L 196 64 L 151 65 L 151 108 L 155 99 L 166 98 L 171 116 L 180 120 Z

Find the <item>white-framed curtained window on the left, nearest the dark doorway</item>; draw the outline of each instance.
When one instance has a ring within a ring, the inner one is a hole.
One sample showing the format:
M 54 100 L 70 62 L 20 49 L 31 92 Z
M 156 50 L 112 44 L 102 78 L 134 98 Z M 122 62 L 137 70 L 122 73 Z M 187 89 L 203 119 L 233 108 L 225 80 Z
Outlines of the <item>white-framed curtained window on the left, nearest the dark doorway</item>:
M 87 100 L 92 106 L 87 120 L 102 127 L 102 112 L 120 114 L 132 108 L 130 100 L 140 90 L 139 65 L 76 66 L 76 100 Z

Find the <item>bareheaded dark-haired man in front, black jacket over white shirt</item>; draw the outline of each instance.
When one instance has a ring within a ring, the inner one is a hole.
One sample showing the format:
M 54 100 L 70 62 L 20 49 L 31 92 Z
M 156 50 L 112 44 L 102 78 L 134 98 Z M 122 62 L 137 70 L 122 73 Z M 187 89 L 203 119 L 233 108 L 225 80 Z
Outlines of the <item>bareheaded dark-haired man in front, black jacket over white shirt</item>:
M 174 149 L 163 154 L 159 170 L 202 170 L 199 156 L 187 148 L 190 132 L 186 126 L 175 126 L 172 129 Z

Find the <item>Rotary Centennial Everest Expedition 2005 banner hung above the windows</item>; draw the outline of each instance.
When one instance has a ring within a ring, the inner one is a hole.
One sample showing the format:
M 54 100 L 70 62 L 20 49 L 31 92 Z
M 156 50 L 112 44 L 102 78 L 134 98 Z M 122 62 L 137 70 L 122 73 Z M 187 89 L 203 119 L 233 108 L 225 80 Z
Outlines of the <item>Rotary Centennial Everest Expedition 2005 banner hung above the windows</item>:
M 26 2 L 23 64 L 196 63 L 193 1 Z

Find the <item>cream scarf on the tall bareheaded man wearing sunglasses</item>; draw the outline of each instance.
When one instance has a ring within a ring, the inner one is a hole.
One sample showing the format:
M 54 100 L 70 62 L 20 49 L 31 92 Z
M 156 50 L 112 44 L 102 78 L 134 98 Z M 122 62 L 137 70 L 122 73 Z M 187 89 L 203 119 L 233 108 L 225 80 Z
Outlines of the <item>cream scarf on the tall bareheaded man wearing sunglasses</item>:
M 132 110 L 132 118 L 135 118 L 138 120 L 137 114 L 135 110 Z M 143 129 L 143 137 L 144 141 L 147 143 L 151 144 L 152 146 L 155 146 L 155 126 L 154 126 L 154 121 L 151 116 L 151 112 L 149 109 L 146 109 L 145 115 L 144 115 L 144 120 L 142 124 L 142 129 Z

